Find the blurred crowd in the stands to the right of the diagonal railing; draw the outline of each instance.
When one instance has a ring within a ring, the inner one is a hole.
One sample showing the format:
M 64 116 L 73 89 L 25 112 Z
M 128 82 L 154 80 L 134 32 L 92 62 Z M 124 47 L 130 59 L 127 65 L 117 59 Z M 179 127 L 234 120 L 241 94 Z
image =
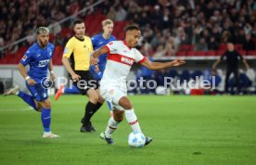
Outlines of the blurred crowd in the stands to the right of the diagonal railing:
M 103 8 L 110 19 L 137 23 L 154 57 L 173 56 L 181 44 L 194 45 L 194 51 L 217 50 L 227 42 L 255 49 L 253 0 L 116 0 Z

